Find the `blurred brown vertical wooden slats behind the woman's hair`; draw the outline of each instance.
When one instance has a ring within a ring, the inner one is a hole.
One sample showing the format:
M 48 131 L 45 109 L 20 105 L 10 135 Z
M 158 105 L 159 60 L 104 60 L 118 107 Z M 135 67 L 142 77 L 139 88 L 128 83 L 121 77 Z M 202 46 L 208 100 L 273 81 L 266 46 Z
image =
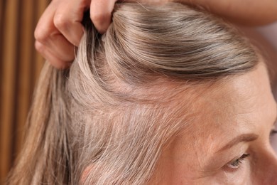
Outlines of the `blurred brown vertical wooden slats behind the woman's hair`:
M 0 0 L 0 184 L 22 146 L 33 88 L 43 65 L 33 31 L 50 0 Z

